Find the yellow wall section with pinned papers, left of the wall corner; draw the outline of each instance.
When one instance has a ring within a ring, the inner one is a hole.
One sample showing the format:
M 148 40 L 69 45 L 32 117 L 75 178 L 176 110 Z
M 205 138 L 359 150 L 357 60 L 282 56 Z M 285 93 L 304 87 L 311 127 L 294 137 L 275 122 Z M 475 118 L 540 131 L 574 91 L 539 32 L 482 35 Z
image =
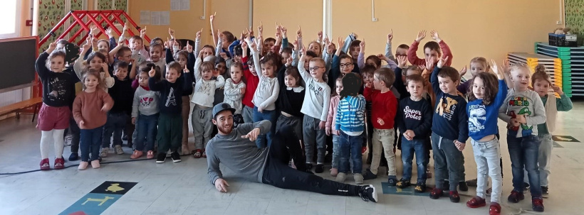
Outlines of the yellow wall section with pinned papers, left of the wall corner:
M 140 26 L 140 11 L 170 11 L 170 0 L 129 0 L 130 7 L 128 13 L 130 17 Z M 189 11 L 170 11 L 169 26 L 147 25 L 147 35 L 152 39 L 160 37 L 163 40 L 170 38 L 168 28 L 175 31 L 179 39 L 194 40 L 197 31 L 203 29 L 202 43 L 212 43 L 211 26 L 209 15 L 217 12 L 215 26 L 221 31 L 231 31 L 239 37 L 240 29 L 243 30 L 248 25 L 249 1 L 229 1 L 229 0 L 207 0 L 207 17 L 203 15 L 203 0 L 191 0 Z M 241 26 L 241 27 L 239 27 Z M 140 26 L 144 27 L 144 26 Z

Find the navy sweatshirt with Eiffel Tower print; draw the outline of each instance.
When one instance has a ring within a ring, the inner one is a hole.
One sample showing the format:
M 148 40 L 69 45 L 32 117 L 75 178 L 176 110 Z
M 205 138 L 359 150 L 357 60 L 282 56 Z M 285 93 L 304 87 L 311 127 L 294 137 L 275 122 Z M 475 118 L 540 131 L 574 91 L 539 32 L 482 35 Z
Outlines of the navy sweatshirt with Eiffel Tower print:
M 189 72 L 190 73 L 190 72 Z M 183 77 L 181 75 L 181 77 Z M 160 108 L 161 114 L 182 114 L 182 94 L 185 90 L 192 89 L 192 79 L 190 75 L 184 75 L 184 80 L 178 78 L 176 82 L 171 83 L 166 79 L 156 82 L 156 79 L 150 77 L 148 79 L 148 87 L 150 90 L 160 92 Z

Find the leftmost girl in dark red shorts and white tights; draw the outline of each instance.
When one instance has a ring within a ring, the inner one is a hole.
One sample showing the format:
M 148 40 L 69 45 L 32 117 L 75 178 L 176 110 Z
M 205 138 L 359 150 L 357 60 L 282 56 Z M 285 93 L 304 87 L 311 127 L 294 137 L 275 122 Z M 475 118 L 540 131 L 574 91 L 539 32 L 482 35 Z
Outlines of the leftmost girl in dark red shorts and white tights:
M 63 133 L 69 126 L 71 110 L 69 105 L 75 97 L 74 75 L 63 72 L 65 68 L 65 52 L 55 50 L 56 43 L 51 43 L 45 52 L 38 55 L 35 63 L 36 72 L 43 84 L 43 106 L 38 111 L 37 128 L 41 130 L 41 170 L 50 170 L 48 150 L 51 138 L 55 145 L 56 170 L 63 169 Z

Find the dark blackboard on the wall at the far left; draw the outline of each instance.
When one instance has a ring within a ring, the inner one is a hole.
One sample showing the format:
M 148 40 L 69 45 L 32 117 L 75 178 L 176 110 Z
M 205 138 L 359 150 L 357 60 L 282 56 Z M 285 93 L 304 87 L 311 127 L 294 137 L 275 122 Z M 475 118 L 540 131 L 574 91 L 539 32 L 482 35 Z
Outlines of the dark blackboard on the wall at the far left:
M 0 39 L 0 91 L 26 87 L 35 80 L 37 37 Z

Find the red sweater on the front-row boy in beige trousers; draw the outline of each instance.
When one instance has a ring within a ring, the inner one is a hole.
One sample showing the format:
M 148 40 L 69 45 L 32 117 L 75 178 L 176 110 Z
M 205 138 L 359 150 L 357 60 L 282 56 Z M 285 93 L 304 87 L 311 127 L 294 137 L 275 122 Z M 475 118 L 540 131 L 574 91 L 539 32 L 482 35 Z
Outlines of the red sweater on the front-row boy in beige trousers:
M 395 114 L 397 112 L 397 98 L 389 90 L 385 93 L 377 89 L 365 87 L 363 91 L 365 100 L 371 101 L 371 122 L 373 128 L 392 129 L 395 124 Z M 383 125 L 377 122 L 377 118 L 383 120 Z

